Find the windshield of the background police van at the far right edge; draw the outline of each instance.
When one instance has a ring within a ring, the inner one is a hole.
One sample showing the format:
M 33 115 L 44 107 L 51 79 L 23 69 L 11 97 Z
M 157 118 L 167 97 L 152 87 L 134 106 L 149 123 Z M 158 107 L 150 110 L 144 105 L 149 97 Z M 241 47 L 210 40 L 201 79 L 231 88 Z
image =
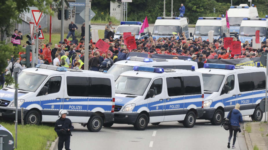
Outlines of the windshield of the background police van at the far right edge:
M 265 36 L 266 27 L 240 27 L 239 35 L 255 36 L 257 30 L 260 30 L 260 36 Z

